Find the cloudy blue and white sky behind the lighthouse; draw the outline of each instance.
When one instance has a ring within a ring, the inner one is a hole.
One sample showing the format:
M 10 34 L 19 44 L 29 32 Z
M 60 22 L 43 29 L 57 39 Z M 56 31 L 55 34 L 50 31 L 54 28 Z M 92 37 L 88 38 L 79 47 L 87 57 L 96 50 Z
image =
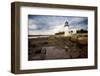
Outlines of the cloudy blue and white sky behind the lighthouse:
M 65 22 L 69 29 L 88 29 L 88 18 L 77 16 L 53 16 L 53 15 L 28 15 L 29 35 L 54 35 L 64 31 Z

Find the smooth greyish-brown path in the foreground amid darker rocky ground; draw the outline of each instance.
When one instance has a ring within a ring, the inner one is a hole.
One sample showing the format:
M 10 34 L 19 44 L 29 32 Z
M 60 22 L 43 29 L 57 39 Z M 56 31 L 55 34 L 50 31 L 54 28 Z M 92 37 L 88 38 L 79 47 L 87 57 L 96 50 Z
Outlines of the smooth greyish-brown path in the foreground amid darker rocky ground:
M 56 47 L 46 47 L 46 59 L 64 59 L 70 58 L 68 52 L 64 49 L 56 48 Z

